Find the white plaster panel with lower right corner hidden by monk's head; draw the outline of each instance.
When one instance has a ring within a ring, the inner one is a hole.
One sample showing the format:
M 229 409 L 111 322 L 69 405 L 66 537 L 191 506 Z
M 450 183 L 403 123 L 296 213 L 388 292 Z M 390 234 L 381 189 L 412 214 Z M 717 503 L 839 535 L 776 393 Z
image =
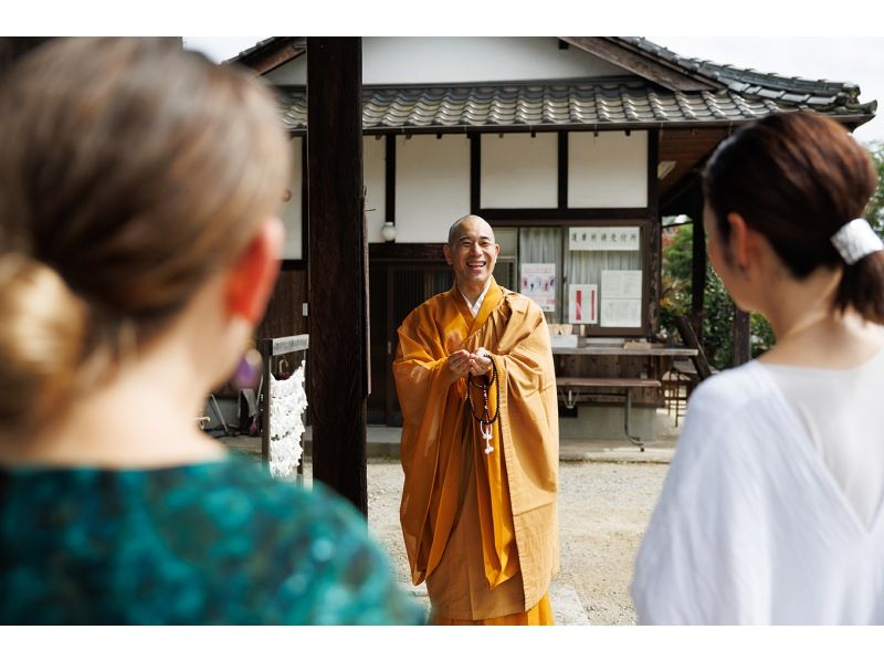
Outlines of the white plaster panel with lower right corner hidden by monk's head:
M 470 213 L 470 141 L 463 135 L 396 138 L 396 242 L 442 243 Z

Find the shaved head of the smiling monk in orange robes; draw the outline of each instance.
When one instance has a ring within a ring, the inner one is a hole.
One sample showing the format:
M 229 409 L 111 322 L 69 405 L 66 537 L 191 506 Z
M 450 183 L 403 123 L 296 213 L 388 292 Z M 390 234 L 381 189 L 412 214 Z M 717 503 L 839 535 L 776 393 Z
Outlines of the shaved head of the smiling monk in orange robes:
M 501 246 L 494 241 L 494 230 L 478 216 L 464 216 L 449 230 L 443 248 L 445 261 L 454 269 L 462 287 L 485 286 L 494 272 Z

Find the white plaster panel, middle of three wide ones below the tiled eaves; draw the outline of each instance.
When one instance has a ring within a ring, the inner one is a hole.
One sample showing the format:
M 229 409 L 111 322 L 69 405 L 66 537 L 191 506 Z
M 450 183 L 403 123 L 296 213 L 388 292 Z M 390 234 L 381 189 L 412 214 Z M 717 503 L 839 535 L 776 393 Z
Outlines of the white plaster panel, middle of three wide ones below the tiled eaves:
M 558 136 L 482 136 L 482 208 L 558 207 Z

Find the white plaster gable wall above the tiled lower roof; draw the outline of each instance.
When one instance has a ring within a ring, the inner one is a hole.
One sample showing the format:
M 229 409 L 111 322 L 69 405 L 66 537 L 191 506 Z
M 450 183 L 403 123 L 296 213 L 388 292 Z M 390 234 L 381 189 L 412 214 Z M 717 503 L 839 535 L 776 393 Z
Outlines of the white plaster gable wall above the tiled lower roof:
M 304 85 L 307 55 L 272 71 L 278 85 Z M 478 83 L 633 75 L 555 36 L 364 36 L 362 84 Z

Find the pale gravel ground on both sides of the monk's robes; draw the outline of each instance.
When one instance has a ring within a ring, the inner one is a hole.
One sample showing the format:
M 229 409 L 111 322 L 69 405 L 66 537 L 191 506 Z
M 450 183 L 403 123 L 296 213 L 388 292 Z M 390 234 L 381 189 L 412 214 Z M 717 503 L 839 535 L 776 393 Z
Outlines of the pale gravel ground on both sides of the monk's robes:
M 591 625 L 635 623 L 629 596 L 633 560 L 667 469 L 589 461 L 559 465 L 561 569 L 556 583 L 577 591 Z M 402 480 L 398 461 L 369 461 L 369 527 L 388 549 L 400 580 L 410 584 L 399 527 Z

